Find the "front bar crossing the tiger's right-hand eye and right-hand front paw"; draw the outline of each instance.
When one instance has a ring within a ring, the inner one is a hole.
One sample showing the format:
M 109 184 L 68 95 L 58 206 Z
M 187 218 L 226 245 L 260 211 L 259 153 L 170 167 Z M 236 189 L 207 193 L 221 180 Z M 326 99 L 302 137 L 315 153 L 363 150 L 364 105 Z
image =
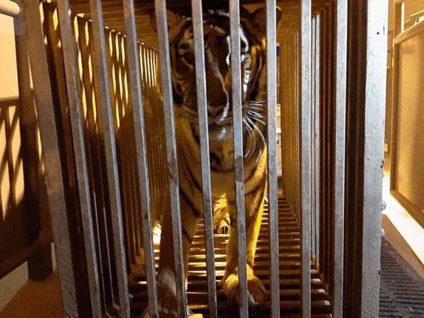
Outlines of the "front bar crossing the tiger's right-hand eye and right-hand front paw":
M 275 7 L 274 7 L 275 11 Z M 274 13 L 275 14 L 275 13 Z M 233 88 L 234 175 L 237 207 L 237 247 L 239 251 L 240 316 L 248 317 L 246 268 L 246 216 L 244 201 L 242 84 L 240 62 L 240 4 L 230 0 L 231 74 Z

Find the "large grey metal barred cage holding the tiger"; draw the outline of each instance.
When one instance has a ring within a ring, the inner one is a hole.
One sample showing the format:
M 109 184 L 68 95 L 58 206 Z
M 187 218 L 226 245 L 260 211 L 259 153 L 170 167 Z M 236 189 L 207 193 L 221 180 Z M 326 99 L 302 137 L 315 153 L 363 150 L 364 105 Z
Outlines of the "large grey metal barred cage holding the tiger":
M 266 6 L 268 195 L 255 269 L 269 298 L 228 309 L 216 285 L 200 0 L 21 0 L 66 317 L 158 316 L 156 224 L 173 226 L 178 313 L 376 317 L 379 299 L 387 2 L 219 1 L 228 6 L 239 263 L 246 263 L 240 4 Z M 282 10 L 278 30 L 275 7 Z M 191 10 L 204 219 L 184 286 L 166 8 Z M 143 39 L 156 12 L 158 37 Z M 277 42 L 279 52 L 276 54 Z M 151 46 L 149 46 L 151 45 Z M 153 46 L 156 46 L 154 48 Z M 277 71 L 277 65 L 279 67 Z M 277 73 L 280 76 L 277 79 Z M 30 76 L 30 74 L 28 74 Z M 277 80 L 279 85 L 277 86 Z M 277 94 L 278 87 L 278 94 Z M 280 186 L 279 186 L 280 184 Z M 280 187 L 280 188 L 279 188 Z M 279 193 L 278 190 L 281 190 Z M 167 202 L 165 193 L 170 193 Z M 225 258 L 225 257 L 224 257 Z M 187 303 L 186 303 L 187 298 Z

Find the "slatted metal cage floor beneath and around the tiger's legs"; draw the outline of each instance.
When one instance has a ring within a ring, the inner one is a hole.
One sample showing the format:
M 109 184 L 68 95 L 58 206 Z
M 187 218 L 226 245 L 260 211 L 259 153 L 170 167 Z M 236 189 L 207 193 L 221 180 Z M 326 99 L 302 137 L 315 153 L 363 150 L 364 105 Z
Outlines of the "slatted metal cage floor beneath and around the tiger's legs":
M 298 220 L 293 213 L 288 201 L 279 198 L 279 251 L 280 251 L 280 312 L 281 316 L 300 316 L 300 231 Z M 255 255 L 255 274 L 262 280 L 269 292 L 269 231 L 268 210 L 262 219 L 262 226 L 258 238 Z M 218 316 L 238 316 L 238 307 L 228 305 L 226 296 L 219 286 L 224 274 L 226 260 L 226 243 L 228 235 L 215 235 L 215 259 L 217 277 Z M 159 251 L 155 253 L 156 259 Z M 207 286 L 206 264 L 204 255 L 203 224 L 197 229 L 190 256 L 187 299 L 188 306 L 193 312 L 202 313 L 207 317 Z M 329 295 L 324 283 L 321 281 L 320 272 L 311 263 L 311 307 L 315 318 L 330 316 L 331 305 Z M 130 277 L 130 292 L 134 296 L 132 313 L 138 316 L 147 306 L 147 286 L 144 275 Z M 250 317 L 268 317 L 269 300 L 263 305 L 249 310 Z

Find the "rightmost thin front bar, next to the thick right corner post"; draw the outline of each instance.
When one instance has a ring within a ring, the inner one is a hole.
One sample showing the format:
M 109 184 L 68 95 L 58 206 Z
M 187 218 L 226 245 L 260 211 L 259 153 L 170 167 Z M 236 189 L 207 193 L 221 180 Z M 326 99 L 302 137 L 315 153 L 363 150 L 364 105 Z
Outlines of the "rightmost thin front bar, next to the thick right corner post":
M 346 133 L 346 72 L 348 45 L 347 0 L 336 3 L 336 71 L 335 71 L 335 179 L 334 179 L 334 275 L 333 314 L 343 316 L 343 257 L 345 222 L 345 133 Z

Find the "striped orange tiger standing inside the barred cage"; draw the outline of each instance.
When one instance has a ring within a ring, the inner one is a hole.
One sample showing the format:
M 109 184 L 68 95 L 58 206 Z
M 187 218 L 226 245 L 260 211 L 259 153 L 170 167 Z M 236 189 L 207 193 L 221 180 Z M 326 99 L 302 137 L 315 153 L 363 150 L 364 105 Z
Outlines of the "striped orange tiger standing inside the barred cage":
M 276 7 L 278 26 L 281 10 Z M 156 17 L 151 15 L 155 31 Z M 187 287 L 190 245 L 203 216 L 200 133 L 198 123 L 193 23 L 189 16 L 167 10 L 173 109 L 179 178 L 182 249 Z M 266 289 L 254 274 L 254 256 L 267 192 L 266 146 L 266 10 L 240 10 L 243 161 L 247 242 L 248 304 L 256 306 Z M 209 134 L 211 195 L 216 231 L 229 228 L 227 263 L 220 283 L 230 303 L 240 301 L 238 288 L 237 209 L 235 196 L 230 15 L 228 10 L 203 12 L 206 107 Z M 164 210 L 157 275 L 161 317 L 178 317 L 170 207 Z M 144 316 L 148 317 L 146 309 Z M 191 312 L 187 312 L 190 315 Z

